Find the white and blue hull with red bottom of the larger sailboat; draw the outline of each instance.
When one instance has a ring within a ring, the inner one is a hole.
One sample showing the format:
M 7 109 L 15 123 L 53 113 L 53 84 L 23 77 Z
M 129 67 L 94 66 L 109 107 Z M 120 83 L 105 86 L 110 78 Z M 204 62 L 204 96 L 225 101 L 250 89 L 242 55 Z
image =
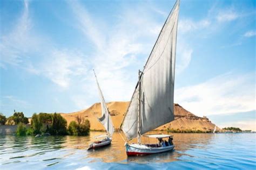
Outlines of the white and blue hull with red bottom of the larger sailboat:
M 151 147 L 150 145 L 126 144 L 127 156 L 143 156 L 172 151 L 174 145 L 164 147 Z

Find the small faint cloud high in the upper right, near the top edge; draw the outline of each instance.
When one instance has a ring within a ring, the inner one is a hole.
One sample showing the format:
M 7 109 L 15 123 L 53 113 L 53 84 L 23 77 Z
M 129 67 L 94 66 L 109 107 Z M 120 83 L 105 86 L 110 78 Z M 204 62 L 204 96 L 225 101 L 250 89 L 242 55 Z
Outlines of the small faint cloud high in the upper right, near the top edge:
M 237 19 L 238 17 L 238 13 L 235 12 L 233 9 L 222 10 L 219 11 L 219 13 L 217 14 L 218 22 L 230 22 Z

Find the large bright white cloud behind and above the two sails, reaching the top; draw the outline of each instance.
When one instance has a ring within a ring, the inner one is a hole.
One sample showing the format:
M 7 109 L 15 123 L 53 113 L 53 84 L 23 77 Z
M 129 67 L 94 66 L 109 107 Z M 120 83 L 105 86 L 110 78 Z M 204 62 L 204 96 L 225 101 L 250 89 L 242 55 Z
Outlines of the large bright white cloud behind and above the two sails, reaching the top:
M 102 24 L 107 24 L 98 22 L 92 24 L 91 21 L 97 21 L 97 18 L 90 16 L 83 4 L 76 1 L 69 4 L 77 18 L 78 29 L 96 47 L 95 53 L 90 56 L 90 65 L 96 70 L 106 101 L 130 100 L 137 81 L 137 70 L 134 68 L 138 63 L 140 68 L 144 64 L 143 61 L 138 60 L 138 55 L 149 53 L 153 46 L 151 44 L 147 47 L 149 44 L 144 44 L 145 41 L 142 42 L 141 39 L 157 38 L 161 27 L 150 20 L 147 16 L 149 13 L 142 12 L 145 9 L 141 8 L 140 10 L 123 9 L 117 16 L 116 24 L 105 26 L 105 30 L 102 30 Z M 131 72 L 130 68 L 134 70 Z M 93 73 L 89 72 L 85 79 L 86 84 L 83 89 L 86 95 L 98 98 Z M 78 102 L 77 105 L 81 104 Z

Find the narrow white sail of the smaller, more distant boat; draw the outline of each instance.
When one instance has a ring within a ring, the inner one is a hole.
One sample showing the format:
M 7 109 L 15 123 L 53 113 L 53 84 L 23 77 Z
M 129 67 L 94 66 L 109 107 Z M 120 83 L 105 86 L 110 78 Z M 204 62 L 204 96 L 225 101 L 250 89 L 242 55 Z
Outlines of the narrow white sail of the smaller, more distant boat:
M 93 72 L 94 72 L 94 70 L 93 70 Z M 95 72 L 94 72 L 94 74 L 95 74 Z M 114 127 L 113 127 L 112 119 L 111 119 L 111 116 L 109 114 L 109 110 L 107 109 L 107 105 L 106 105 L 106 102 L 104 100 L 102 90 L 100 90 L 96 74 L 95 74 L 95 78 L 96 78 L 98 91 L 99 91 L 100 105 L 102 107 L 102 117 L 98 118 L 98 120 L 104 126 L 104 128 L 110 134 L 110 136 L 112 137 L 112 135 L 114 133 Z

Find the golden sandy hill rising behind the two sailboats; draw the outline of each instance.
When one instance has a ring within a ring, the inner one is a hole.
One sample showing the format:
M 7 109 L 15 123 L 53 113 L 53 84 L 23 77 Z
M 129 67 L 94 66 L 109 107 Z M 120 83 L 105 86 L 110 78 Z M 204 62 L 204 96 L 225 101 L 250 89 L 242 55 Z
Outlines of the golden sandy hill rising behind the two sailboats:
M 113 120 L 114 128 L 118 129 L 124 118 L 125 111 L 129 105 L 129 102 L 110 102 L 107 103 L 111 118 Z M 89 119 L 92 130 L 104 130 L 102 124 L 97 120 L 97 117 L 101 116 L 100 103 L 93 104 L 90 108 L 81 110 L 78 112 L 72 112 L 70 114 L 61 114 L 67 121 L 68 124 L 71 121 L 76 120 L 76 116 L 79 115 L 83 118 Z M 157 130 L 166 130 L 167 128 L 173 130 L 213 130 L 215 124 L 206 117 L 198 117 L 191 112 L 187 111 L 179 104 L 174 104 L 174 117 L 175 120 L 171 123 L 167 123 L 157 128 Z

